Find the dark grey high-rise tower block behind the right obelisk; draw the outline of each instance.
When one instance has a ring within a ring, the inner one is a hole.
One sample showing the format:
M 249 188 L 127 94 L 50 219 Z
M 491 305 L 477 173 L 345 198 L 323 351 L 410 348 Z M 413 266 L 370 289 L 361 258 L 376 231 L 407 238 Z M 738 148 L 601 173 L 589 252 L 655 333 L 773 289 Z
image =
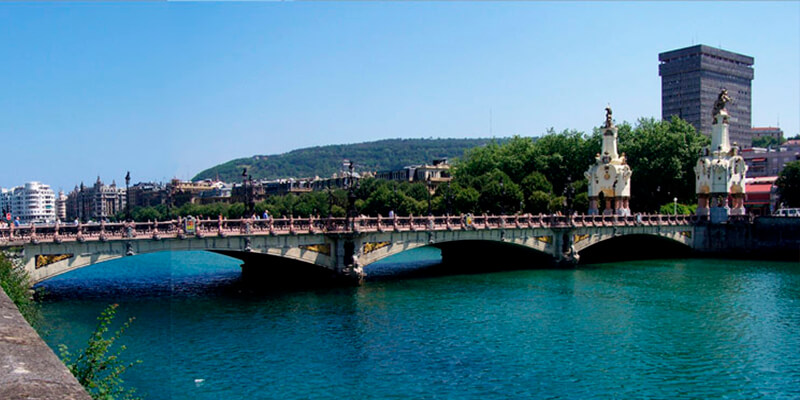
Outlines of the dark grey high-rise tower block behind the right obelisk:
M 730 141 L 749 146 L 753 57 L 705 45 L 667 51 L 658 55 L 661 76 L 661 116 L 677 115 L 705 135 L 711 134 L 711 111 L 721 89 L 733 101 Z

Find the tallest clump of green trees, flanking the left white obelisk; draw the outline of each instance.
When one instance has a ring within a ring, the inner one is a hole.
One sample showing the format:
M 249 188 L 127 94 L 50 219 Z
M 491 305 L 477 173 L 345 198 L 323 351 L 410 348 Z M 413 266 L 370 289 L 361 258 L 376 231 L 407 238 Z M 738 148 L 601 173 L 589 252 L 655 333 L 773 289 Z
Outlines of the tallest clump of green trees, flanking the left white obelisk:
M 618 149 L 633 169 L 634 209 L 656 211 L 664 200 L 694 198 L 693 167 L 700 149 L 708 143 L 706 137 L 679 118 L 641 119 L 635 126 L 623 123 L 618 128 Z M 585 212 L 589 199 L 584 172 L 594 162 L 601 143 L 600 129 L 591 136 L 550 129 L 538 140 L 514 137 L 504 144 L 490 143 L 468 151 L 456 163 L 455 182 L 480 193 L 477 211 L 481 212 L 503 206 L 512 212 L 519 209 L 519 201 L 526 212 L 564 212 L 567 186 L 574 193 L 571 208 Z M 504 181 L 507 188 L 519 188 L 521 196 L 515 190 L 498 195 L 497 186 L 489 184 L 497 181 L 498 175 L 511 181 Z

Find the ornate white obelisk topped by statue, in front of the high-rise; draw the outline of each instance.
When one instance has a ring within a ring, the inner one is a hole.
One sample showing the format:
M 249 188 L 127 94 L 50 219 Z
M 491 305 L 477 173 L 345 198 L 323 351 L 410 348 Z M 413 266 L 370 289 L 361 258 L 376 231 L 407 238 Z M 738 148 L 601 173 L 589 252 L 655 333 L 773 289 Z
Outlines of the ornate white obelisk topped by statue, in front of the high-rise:
M 711 112 L 711 146 L 703 148 L 694 167 L 697 192 L 697 215 L 709 216 L 711 222 L 728 220 L 728 215 L 744 215 L 744 178 L 747 164 L 739 155 L 739 147 L 730 144 L 730 115 L 726 105 L 731 101 L 722 89 Z M 728 198 L 730 197 L 730 206 Z

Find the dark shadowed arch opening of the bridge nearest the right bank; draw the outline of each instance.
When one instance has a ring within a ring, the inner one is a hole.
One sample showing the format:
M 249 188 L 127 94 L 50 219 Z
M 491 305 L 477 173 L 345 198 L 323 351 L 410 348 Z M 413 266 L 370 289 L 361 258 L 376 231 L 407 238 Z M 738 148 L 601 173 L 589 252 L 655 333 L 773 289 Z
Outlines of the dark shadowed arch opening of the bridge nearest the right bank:
M 580 251 L 581 264 L 612 261 L 685 258 L 692 248 L 657 235 L 625 235 L 596 243 Z

